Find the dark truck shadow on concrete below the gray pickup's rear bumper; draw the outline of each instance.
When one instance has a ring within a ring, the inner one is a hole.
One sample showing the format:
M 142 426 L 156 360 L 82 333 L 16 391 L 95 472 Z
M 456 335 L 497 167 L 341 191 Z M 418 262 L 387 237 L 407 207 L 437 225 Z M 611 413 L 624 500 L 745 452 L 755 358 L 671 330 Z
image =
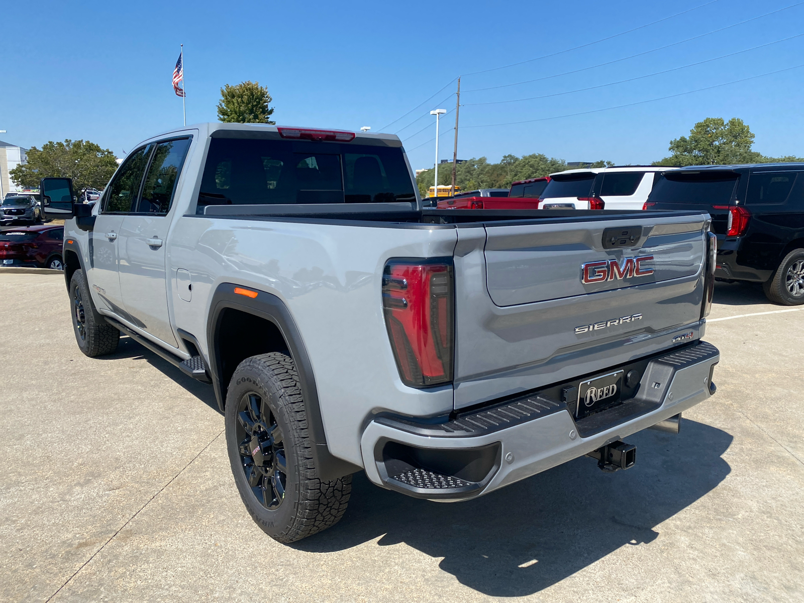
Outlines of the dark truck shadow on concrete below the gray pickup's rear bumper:
M 462 584 L 495 597 L 537 593 L 623 546 L 643 546 L 658 524 L 729 474 L 720 455 L 732 436 L 684 420 L 679 435 L 644 431 L 637 464 L 604 474 L 577 458 L 468 503 L 431 503 L 383 490 L 355 474 L 341 522 L 294 548 L 335 552 L 379 537 L 408 544 Z M 654 553 L 646 551 L 646 557 Z

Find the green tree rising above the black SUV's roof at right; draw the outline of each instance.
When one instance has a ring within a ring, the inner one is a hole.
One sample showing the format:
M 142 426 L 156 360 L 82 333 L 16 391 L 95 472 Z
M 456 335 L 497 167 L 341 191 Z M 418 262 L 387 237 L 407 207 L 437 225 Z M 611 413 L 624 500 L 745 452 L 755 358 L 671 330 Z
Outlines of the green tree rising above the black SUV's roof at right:
M 692 126 L 689 137 L 671 140 L 672 155 L 654 162 L 657 166 L 713 166 L 730 163 L 757 163 L 760 153 L 751 150 L 754 134 L 739 117 L 725 121 L 707 117 Z

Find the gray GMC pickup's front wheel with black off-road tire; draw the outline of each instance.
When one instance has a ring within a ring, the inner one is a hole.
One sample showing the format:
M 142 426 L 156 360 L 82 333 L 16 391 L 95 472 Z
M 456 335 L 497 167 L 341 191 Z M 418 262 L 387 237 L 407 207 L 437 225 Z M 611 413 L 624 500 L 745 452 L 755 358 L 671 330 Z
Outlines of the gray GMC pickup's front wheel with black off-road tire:
M 84 355 L 95 358 L 117 350 L 120 331 L 95 310 L 83 270 L 76 270 L 70 279 L 70 310 L 76 343 Z

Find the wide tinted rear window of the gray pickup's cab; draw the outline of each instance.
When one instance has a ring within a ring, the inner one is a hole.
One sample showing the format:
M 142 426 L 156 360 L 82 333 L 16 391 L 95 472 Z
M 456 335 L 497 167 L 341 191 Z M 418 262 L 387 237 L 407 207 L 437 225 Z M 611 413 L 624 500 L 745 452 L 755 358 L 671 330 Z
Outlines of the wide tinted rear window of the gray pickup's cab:
M 213 138 L 199 211 L 206 205 L 415 202 L 399 147 Z

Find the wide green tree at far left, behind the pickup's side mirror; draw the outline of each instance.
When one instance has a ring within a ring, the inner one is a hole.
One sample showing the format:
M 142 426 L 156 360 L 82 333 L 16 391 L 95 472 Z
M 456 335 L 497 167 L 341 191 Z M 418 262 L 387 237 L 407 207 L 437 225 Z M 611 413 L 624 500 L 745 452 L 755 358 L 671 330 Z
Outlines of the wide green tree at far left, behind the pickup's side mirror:
M 39 178 L 72 178 L 73 190 L 92 187 L 102 190 L 117 170 L 117 160 L 109 149 L 94 142 L 65 140 L 47 142 L 39 150 L 27 151 L 27 162 L 10 170 L 18 187 L 38 188 Z

